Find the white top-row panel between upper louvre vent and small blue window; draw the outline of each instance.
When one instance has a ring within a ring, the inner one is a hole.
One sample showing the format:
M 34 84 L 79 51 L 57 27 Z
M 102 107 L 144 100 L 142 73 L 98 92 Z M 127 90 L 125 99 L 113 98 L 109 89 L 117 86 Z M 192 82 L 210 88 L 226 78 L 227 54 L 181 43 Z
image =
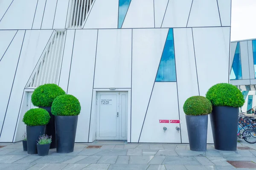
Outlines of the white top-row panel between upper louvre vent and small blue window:
M 95 0 L 84 28 L 117 28 L 119 0 Z

